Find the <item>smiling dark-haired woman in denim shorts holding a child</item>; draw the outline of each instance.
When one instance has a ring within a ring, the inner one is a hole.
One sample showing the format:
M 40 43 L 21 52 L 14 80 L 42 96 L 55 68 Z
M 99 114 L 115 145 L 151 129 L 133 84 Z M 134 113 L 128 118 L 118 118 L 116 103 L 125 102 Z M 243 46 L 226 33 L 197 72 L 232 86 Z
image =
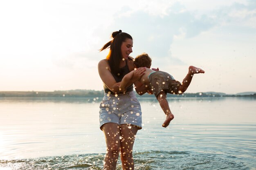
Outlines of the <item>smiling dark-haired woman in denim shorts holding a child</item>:
M 112 33 L 112 40 L 100 51 L 110 46 L 106 59 L 98 64 L 99 75 L 103 81 L 104 97 L 100 105 L 100 128 L 103 130 L 107 151 L 104 170 L 115 170 L 119 152 L 123 170 L 134 170 L 132 147 L 136 133 L 141 129 L 141 107 L 133 91 L 146 93 L 145 87 L 136 82 L 144 74 L 146 68 L 138 68 L 135 77 L 130 80 L 126 93 L 119 92 L 121 80 L 134 70 L 132 53 L 132 37 L 121 30 Z

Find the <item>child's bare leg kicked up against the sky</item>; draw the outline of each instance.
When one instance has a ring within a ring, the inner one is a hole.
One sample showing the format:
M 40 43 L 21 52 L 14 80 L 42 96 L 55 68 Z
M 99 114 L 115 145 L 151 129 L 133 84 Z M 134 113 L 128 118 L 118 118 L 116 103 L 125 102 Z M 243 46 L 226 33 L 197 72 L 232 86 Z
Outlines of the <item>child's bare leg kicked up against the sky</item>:
M 198 73 L 204 73 L 204 71 L 201 68 L 197 68 L 195 66 L 189 66 L 189 73 L 183 79 L 182 85 L 178 86 L 178 93 L 180 94 L 184 93 L 186 89 L 189 87 L 189 84 L 191 83 L 193 75 Z

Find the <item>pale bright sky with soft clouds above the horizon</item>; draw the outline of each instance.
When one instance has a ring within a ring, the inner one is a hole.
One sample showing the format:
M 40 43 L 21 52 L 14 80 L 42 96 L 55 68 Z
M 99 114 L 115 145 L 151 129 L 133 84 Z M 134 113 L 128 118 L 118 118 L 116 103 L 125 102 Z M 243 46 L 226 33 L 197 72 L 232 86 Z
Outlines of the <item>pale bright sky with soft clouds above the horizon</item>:
M 186 93 L 256 91 L 255 0 L 8 0 L 0 2 L 0 91 L 102 90 L 99 49 L 121 29 L 133 53 Z

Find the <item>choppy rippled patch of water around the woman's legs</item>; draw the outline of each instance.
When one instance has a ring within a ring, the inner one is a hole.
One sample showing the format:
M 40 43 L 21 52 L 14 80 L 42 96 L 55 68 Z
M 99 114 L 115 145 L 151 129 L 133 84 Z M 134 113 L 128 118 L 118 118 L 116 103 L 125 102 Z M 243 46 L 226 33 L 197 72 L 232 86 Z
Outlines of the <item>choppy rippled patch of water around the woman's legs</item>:
M 136 170 L 249 170 L 243 161 L 234 156 L 203 154 L 182 151 L 135 152 Z M 103 154 L 67 155 L 34 159 L 1 160 L 0 167 L 11 170 L 101 170 Z M 118 161 L 117 170 L 121 170 Z

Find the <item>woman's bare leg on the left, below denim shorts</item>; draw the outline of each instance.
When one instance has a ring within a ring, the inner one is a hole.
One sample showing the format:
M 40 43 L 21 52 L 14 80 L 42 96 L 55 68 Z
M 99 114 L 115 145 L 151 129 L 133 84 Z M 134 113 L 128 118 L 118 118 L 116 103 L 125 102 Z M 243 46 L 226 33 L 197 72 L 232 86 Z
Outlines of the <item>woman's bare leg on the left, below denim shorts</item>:
M 107 123 L 102 125 L 107 151 L 103 170 L 115 170 L 120 151 L 120 125 Z

